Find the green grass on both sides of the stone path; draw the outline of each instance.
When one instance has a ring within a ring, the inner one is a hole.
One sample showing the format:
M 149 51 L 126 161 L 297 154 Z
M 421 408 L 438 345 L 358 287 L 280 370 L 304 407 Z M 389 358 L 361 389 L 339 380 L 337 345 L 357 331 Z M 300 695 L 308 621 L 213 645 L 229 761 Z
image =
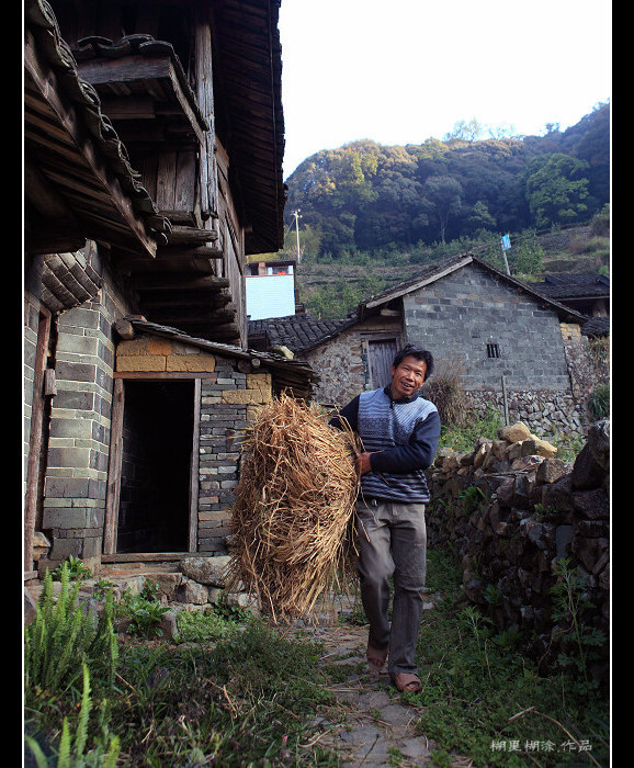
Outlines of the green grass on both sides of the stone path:
M 451 766 L 452 754 L 483 767 L 608 765 L 604 698 L 564 675 L 540 677 L 513 634 L 495 634 L 466 603 L 449 551 L 429 552 L 428 574 L 430 592 L 442 598 L 421 624 L 423 690 L 403 700 L 437 743 L 432 765 Z M 331 691 L 342 667 L 324 663 L 320 643 L 222 608 L 182 612 L 178 641 L 148 630 L 120 636 L 114 684 L 88 658 L 88 693 L 86 657 L 76 658 L 70 687 L 27 686 L 25 730 L 45 756 L 41 765 L 60 768 L 63 732 L 82 747 L 72 766 L 104 765 L 113 745 L 118 766 L 339 765 L 316 741 L 317 718 L 344 716 Z

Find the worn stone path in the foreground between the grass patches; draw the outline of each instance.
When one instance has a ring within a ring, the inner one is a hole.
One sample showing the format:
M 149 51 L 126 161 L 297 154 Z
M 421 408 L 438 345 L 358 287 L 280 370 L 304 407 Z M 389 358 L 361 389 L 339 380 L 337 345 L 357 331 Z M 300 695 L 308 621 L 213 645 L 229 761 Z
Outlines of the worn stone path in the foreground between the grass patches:
M 327 718 L 315 721 L 318 732 L 312 743 L 336 752 L 341 768 L 429 765 L 434 743 L 417 733 L 417 708 L 396 691 L 385 670 L 367 671 L 367 629 L 339 625 L 305 631 L 326 646 L 322 662 L 351 669 L 347 679 L 331 689 L 346 716 L 341 722 Z M 471 765 L 460 757 L 452 763 L 455 768 Z

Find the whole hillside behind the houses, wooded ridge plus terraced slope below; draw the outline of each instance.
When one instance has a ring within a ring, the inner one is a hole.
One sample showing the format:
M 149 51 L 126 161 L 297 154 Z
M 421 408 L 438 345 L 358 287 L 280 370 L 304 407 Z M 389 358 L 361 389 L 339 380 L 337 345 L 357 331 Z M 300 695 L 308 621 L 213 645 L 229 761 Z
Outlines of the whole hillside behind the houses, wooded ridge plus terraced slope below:
M 474 251 L 505 269 L 505 234 L 520 279 L 607 271 L 610 104 L 564 132 L 479 134 L 472 121 L 443 140 L 360 140 L 306 158 L 286 180 L 284 249 L 265 258 L 296 259 L 299 240 L 299 297 L 321 317 L 443 256 Z

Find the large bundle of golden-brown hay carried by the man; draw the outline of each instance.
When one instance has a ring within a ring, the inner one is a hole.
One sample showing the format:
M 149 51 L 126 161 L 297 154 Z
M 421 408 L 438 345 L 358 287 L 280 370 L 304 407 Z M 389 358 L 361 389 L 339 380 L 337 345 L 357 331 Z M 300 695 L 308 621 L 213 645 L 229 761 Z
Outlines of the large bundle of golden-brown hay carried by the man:
M 347 571 L 359 486 L 351 432 L 282 395 L 242 443 L 231 510 L 231 580 L 274 620 L 305 615 Z

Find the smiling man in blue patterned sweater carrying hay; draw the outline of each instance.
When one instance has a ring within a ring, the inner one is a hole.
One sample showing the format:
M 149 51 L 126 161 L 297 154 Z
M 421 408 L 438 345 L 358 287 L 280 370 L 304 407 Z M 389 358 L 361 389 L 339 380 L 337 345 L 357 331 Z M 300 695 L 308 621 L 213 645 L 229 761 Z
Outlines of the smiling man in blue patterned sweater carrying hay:
M 437 407 L 418 391 L 433 370 L 427 350 L 408 346 L 390 366 L 392 382 L 363 392 L 341 409 L 360 436 L 361 487 L 356 502 L 361 600 L 370 622 L 367 663 L 378 671 L 388 659 L 399 691 L 420 690 L 415 662 L 427 567 L 424 472 L 440 437 Z M 394 576 L 392 626 L 389 578 Z

